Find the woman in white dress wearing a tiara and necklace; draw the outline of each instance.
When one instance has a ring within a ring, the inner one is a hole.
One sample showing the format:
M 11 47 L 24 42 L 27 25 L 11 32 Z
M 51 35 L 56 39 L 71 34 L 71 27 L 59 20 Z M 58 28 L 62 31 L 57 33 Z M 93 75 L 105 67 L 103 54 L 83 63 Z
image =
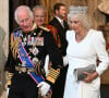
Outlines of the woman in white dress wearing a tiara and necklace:
M 66 32 L 69 69 L 63 98 L 100 98 L 100 75 L 109 65 L 106 42 L 100 30 L 92 29 L 86 8 L 74 7 L 68 16 L 71 30 Z M 97 58 L 99 64 L 97 66 Z M 76 81 L 74 70 L 94 64 L 96 71 L 84 72 L 86 77 Z

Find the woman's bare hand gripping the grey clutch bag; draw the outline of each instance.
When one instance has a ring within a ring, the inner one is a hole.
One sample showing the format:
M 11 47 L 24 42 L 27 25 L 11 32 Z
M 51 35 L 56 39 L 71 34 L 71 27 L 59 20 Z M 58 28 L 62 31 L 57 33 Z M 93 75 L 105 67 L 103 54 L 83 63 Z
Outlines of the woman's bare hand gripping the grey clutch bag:
M 86 78 L 84 78 L 84 82 L 86 82 L 86 83 L 92 83 L 92 81 L 98 76 L 97 72 L 94 72 L 94 73 L 84 72 L 84 74 L 87 75 Z

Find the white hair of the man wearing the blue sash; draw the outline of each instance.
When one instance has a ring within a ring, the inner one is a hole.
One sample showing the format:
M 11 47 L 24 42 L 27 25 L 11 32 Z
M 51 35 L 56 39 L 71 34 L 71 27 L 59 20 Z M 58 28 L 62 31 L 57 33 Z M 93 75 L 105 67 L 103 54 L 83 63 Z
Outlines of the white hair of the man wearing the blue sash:
M 34 17 L 34 16 L 33 16 L 33 12 L 32 12 L 32 10 L 29 9 L 29 7 L 27 7 L 27 5 L 20 5 L 20 7 L 15 10 L 15 12 L 14 12 L 14 19 L 15 19 L 16 23 L 19 23 L 17 13 L 19 13 L 19 11 L 21 11 L 22 9 L 27 10 L 28 13 L 29 13 L 29 15 L 31 15 L 31 17 L 32 17 L 32 19 Z

